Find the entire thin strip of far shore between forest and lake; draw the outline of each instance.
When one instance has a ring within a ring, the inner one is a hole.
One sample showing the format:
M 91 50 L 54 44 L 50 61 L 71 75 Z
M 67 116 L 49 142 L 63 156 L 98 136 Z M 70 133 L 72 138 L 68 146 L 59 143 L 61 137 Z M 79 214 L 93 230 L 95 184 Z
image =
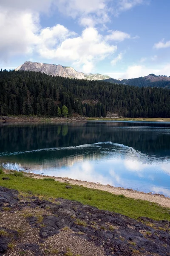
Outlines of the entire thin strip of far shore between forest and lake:
M 14 122 L 87 122 L 87 121 L 131 121 L 131 122 L 170 122 L 170 118 L 127 118 L 127 117 L 47 117 L 47 116 L 0 116 L 0 123 Z

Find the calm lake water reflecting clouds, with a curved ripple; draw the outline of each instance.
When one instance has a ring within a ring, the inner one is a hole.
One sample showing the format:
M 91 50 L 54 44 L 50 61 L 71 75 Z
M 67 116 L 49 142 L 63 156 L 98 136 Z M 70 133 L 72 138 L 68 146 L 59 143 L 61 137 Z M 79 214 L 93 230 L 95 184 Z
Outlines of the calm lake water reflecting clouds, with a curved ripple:
M 170 123 L 3 124 L 0 165 L 170 196 Z

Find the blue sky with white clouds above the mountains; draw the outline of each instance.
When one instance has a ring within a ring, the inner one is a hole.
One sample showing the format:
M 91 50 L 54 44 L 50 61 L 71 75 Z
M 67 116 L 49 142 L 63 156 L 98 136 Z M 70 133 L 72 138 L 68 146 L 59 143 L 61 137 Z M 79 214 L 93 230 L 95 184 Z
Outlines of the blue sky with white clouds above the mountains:
M 170 76 L 170 0 L 0 0 L 0 69 Z

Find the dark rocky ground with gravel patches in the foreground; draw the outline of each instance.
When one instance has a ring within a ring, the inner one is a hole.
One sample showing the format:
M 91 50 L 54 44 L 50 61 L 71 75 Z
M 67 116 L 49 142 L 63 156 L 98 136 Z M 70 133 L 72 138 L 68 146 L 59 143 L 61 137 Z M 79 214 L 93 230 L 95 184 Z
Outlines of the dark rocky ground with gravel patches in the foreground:
M 0 186 L 3 255 L 168 256 L 170 222 L 136 221 L 76 201 L 45 201 Z

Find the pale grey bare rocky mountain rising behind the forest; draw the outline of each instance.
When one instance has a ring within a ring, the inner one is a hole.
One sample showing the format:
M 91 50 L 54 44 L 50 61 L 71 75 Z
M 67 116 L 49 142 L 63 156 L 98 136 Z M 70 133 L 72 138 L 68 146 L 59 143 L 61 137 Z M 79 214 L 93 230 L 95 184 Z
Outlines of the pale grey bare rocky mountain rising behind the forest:
M 82 72 L 76 71 L 73 67 L 62 67 L 61 65 L 45 64 L 38 62 L 26 61 L 24 64 L 20 65 L 15 69 L 22 71 L 35 71 L 45 73 L 51 76 L 62 76 L 65 78 L 77 78 L 86 80 L 105 80 L 111 79 L 110 76 L 104 76 L 101 74 L 84 74 Z

